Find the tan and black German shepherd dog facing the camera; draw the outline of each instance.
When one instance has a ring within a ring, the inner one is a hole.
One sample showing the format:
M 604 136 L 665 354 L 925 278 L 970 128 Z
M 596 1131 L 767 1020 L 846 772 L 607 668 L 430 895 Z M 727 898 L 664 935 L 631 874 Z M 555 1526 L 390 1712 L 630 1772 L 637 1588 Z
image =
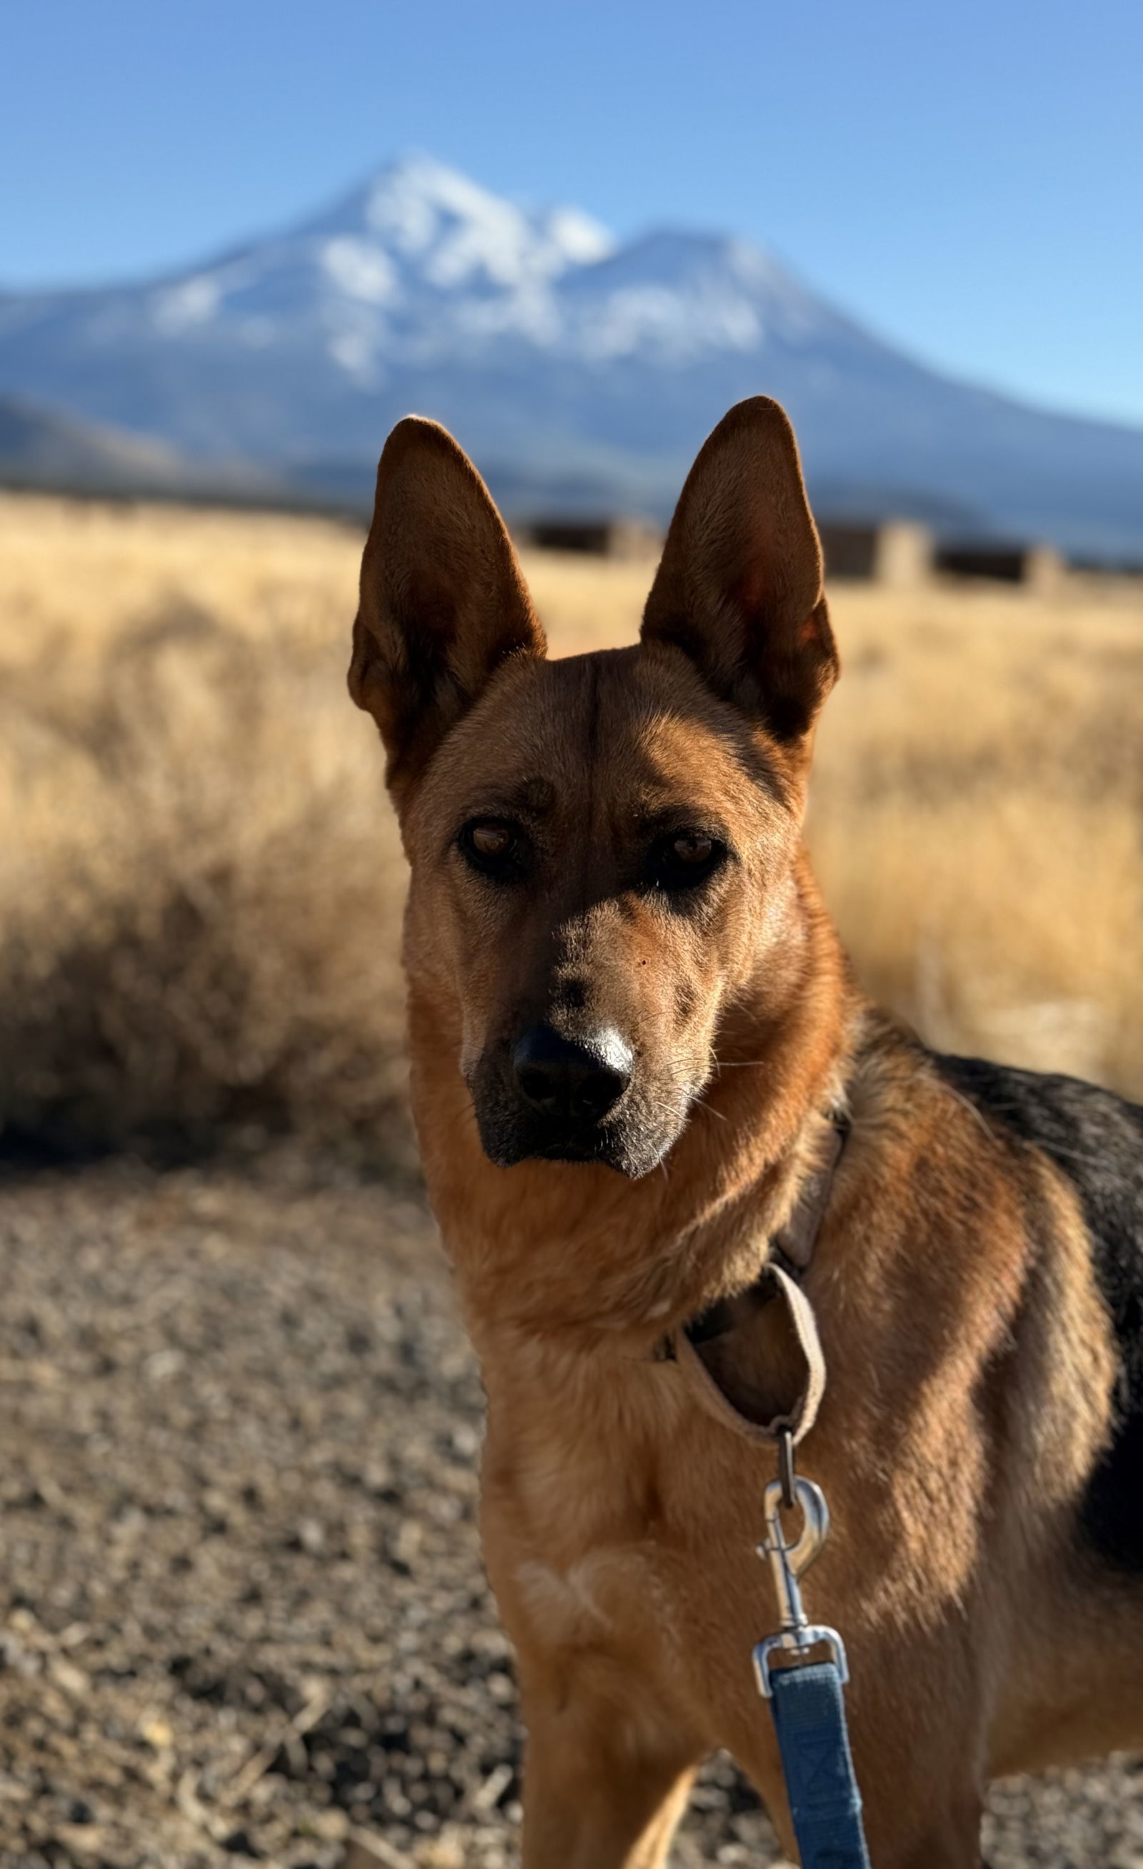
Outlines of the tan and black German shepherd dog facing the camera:
M 848 1647 L 876 1869 L 979 1865 L 992 1776 L 1143 1744 L 1143 1110 L 936 1056 L 863 996 L 801 841 L 837 673 L 775 402 L 702 447 L 639 645 L 557 662 L 471 462 L 390 434 L 349 690 L 411 863 L 413 1108 L 487 1391 L 527 1869 L 663 1863 L 715 1746 L 794 1854 L 751 1671 L 773 1450 L 663 1344 L 758 1286 L 814 1174 L 807 1607 Z M 728 1346 L 736 1413 L 788 1409 L 786 1310 Z

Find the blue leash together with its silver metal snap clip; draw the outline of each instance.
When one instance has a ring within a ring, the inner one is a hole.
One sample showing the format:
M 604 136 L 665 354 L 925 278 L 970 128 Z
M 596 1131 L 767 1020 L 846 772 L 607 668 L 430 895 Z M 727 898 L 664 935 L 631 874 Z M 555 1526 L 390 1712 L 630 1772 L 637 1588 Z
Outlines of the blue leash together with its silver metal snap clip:
M 790 1460 L 788 1443 L 784 1452 Z M 783 1493 L 801 1506 L 803 1529 L 796 1544 L 786 1544 L 783 1534 Z M 766 1488 L 766 1540 L 758 1555 L 769 1559 L 783 1628 L 755 1648 L 755 1671 L 773 1712 L 801 1869 L 870 1869 L 846 1729 L 846 1650 L 837 1630 L 807 1620 L 797 1589 L 827 1533 L 826 1497 L 812 1480 L 794 1478 L 792 1473 L 771 1480 Z M 831 1648 L 831 1658 L 805 1660 L 807 1650 L 822 1643 Z M 771 1669 L 773 1654 L 786 1658 L 788 1665 Z

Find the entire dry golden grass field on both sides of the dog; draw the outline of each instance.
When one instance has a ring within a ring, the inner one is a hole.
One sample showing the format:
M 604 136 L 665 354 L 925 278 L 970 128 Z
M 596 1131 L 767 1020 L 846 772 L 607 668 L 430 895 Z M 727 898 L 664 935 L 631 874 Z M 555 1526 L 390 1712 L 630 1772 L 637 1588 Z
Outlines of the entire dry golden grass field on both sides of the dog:
M 344 665 L 360 540 L 0 499 L 0 1121 L 407 1159 L 402 858 Z M 650 566 L 527 561 L 553 649 Z M 1143 600 L 839 587 L 811 841 L 934 1043 L 1143 1095 Z

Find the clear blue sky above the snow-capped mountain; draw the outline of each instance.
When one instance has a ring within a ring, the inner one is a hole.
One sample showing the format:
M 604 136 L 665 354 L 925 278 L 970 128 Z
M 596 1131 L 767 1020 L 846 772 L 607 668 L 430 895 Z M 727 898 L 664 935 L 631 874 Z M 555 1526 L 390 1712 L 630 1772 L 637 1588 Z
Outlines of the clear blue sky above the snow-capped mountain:
M 7 0 L 0 284 L 198 260 L 407 148 L 1143 422 L 1139 0 Z

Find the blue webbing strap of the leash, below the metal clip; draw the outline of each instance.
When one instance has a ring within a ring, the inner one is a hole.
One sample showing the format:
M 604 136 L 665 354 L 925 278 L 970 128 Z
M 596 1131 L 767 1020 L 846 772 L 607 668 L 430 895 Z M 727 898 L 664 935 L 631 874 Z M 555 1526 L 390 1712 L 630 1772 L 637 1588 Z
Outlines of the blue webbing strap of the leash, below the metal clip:
M 870 1869 L 837 1662 L 769 1676 L 801 1869 Z

